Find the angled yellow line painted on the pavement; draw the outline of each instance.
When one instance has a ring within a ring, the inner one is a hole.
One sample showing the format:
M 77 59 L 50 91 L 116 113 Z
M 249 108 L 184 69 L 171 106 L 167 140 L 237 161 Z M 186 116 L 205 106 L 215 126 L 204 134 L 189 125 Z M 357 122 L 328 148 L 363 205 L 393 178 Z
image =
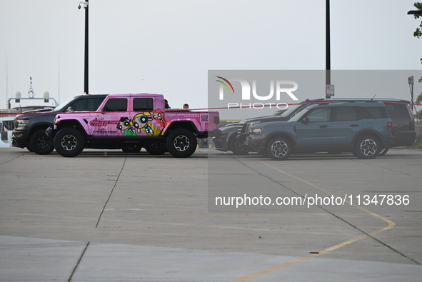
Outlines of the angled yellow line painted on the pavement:
M 297 176 L 293 176 L 293 174 L 287 173 L 286 171 L 283 171 L 283 170 L 281 170 L 280 168 L 276 168 L 275 166 L 271 166 L 271 164 L 266 163 L 265 161 L 260 161 L 260 160 L 257 160 L 257 161 L 259 161 L 260 163 L 263 163 L 264 165 L 266 165 L 266 166 L 268 166 L 268 167 L 270 167 L 270 168 L 273 168 L 273 169 L 274 169 L 274 170 L 276 170 L 276 171 L 279 171 L 279 172 L 281 172 L 281 173 L 285 174 L 286 176 L 290 176 L 290 177 L 292 177 L 292 178 L 295 178 L 295 179 L 296 179 L 296 180 L 298 180 L 298 181 L 301 181 L 301 182 L 303 182 L 303 183 L 308 184 L 309 186 L 312 186 L 312 187 L 314 187 L 314 188 L 317 188 L 318 190 L 323 191 L 324 193 L 328 193 L 329 195 L 337 196 L 336 194 L 331 193 L 331 192 L 327 191 L 326 189 L 321 188 L 321 187 L 319 187 L 319 186 L 317 186 L 317 185 L 315 185 L 315 184 L 313 184 L 313 183 L 311 183 L 311 182 L 309 182 L 309 181 L 306 181 L 305 179 L 302 179 L 302 178 L 297 177 Z M 347 201 L 347 202 L 348 202 L 348 201 Z M 350 203 L 350 202 L 348 202 L 348 203 Z M 303 257 L 301 257 L 301 258 L 296 258 L 296 259 L 295 259 L 295 260 L 293 260 L 293 261 L 287 261 L 286 263 L 281 263 L 281 264 L 279 264 L 278 266 L 273 266 L 273 267 L 271 267 L 271 268 L 267 268 L 267 269 L 264 269 L 264 270 L 262 270 L 262 271 L 258 271 L 258 272 L 256 272 L 256 273 L 252 273 L 251 275 L 244 276 L 244 277 L 242 277 L 242 278 L 238 278 L 238 279 L 236 279 L 236 280 L 233 280 L 232 282 L 242 282 L 242 281 L 248 281 L 248 280 L 250 280 L 250 279 L 252 279 L 252 278 L 255 278 L 255 277 L 257 277 L 257 276 L 261 276 L 261 275 L 266 274 L 266 273 L 269 273 L 269 272 L 271 272 L 271 271 L 276 271 L 276 270 L 278 270 L 278 269 L 280 269 L 280 268 L 283 268 L 283 267 L 286 267 L 286 266 L 290 266 L 290 265 L 291 265 L 291 264 L 293 264 L 293 263 L 298 263 L 298 262 L 300 262 L 300 261 L 304 261 L 304 260 L 306 260 L 306 259 L 308 259 L 308 258 L 313 258 L 313 257 L 316 257 L 316 256 L 320 256 L 320 255 L 322 255 L 322 254 L 324 254 L 324 253 L 329 253 L 329 252 L 331 252 L 331 251 L 336 250 L 337 248 L 341 248 L 341 247 L 343 247 L 343 246 L 347 246 L 348 244 L 354 243 L 354 242 L 359 241 L 359 240 L 361 240 L 361 239 L 363 239 L 363 238 L 368 238 L 368 236 L 373 236 L 373 235 L 376 235 L 376 234 L 381 233 L 381 232 L 383 232 L 383 231 L 387 231 L 388 229 L 391 229 L 391 228 L 393 228 L 394 226 L 396 226 L 396 223 L 394 223 L 393 221 L 391 221 L 391 220 L 389 220 L 388 218 L 385 218 L 385 217 L 383 217 L 383 216 L 380 216 L 380 215 L 378 215 L 378 214 L 376 214 L 376 213 L 373 213 L 372 211 L 368 211 L 366 208 L 363 208 L 363 207 L 361 207 L 361 206 L 357 206 L 357 205 L 355 205 L 354 203 L 353 203 L 351 206 L 354 206 L 355 208 L 359 208 L 361 211 L 365 211 L 366 213 L 371 214 L 371 216 L 374 216 L 374 217 L 376 217 L 376 218 L 381 219 L 382 221 L 385 221 L 386 223 L 388 223 L 388 226 L 386 226 L 386 227 L 384 227 L 384 228 L 381 228 L 381 229 L 378 229 L 378 230 L 376 230 L 376 231 L 373 231 L 373 232 L 371 232 L 371 233 L 368 233 L 368 235 L 367 235 L 367 234 L 364 234 L 364 235 L 362 235 L 362 236 L 358 236 L 358 237 L 356 237 L 356 238 L 351 238 L 350 240 L 345 241 L 345 242 L 343 242 L 343 243 L 338 243 L 337 245 L 332 246 L 332 247 L 330 247 L 330 248 L 326 248 L 325 250 L 320 251 L 320 252 L 318 252 L 318 253 L 312 253 L 312 254 L 310 254 L 309 256 L 303 256 Z

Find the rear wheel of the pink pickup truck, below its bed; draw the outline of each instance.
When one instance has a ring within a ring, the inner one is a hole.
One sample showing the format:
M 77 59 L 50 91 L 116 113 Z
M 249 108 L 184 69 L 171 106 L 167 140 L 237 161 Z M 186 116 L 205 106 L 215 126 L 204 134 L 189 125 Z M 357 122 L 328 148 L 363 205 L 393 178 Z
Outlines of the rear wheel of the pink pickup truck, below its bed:
M 196 136 L 189 129 L 175 129 L 167 137 L 166 146 L 171 156 L 187 158 L 196 150 Z

